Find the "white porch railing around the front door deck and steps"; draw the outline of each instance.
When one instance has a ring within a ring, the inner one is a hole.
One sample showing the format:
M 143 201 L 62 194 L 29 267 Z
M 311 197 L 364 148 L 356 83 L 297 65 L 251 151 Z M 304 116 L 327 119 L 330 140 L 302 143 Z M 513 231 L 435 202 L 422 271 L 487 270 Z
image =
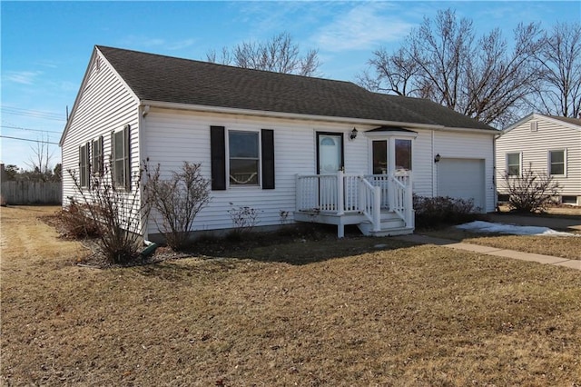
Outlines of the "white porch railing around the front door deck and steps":
M 396 174 L 297 174 L 297 211 L 343 215 L 361 213 L 379 231 L 381 209 L 413 227 L 411 176 Z

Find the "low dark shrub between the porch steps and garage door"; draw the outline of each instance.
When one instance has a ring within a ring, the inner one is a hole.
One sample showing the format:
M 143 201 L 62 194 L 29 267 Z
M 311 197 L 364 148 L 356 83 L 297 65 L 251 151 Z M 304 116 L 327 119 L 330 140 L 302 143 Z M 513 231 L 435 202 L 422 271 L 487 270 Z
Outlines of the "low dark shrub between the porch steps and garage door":
M 416 211 L 416 227 L 431 228 L 444 224 L 458 224 L 476 218 L 474 201 L 456 199 L 448 196 L 413 198 Z

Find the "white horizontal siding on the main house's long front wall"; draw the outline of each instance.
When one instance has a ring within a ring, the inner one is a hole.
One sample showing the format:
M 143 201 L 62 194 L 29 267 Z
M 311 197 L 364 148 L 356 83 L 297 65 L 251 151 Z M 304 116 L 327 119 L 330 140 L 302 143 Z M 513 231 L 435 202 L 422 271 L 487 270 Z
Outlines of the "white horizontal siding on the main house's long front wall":
M 295 175 L 316 173 L 316 133 L 342 133 L 344 144 L 345 172 L 348 174 L 369 174 L 369 138 L 363 134 L 373 126 L 359 124 L 334 124 L 306 120 L 272 120 L 235 114 L 195 113 L 161 108 L 152 108 L 143 119 L 143 157 L 149 157 L 150 164 L 161 164 L 162 175 L 169 176 L 178 171 L 184 161 L 201 163 L 202 174 L 210 178 L 210 127 L 224 126 L 226 130 L 274 131 L 275 180 L 274 190 L 261 187 L 229 187 L 225 191 L 212 191 L 211 203 L 195 219 L 194 230 L 205 231 L 232 227 L 228 210 L 250 206 L 259 210 L 258 226 L 279 225 L 280 212 L 295 209 Z M 353 127 L 358 128 L 356 139 L 350 140 Z M 432 132 L 418 131 L 413 148 L 414 189 L 416 193 L 431 196 L 435 194 L 435 167 L 433 161 Z M 492 181 L 491 134 L 435 134 L 440 154 L 470 154 L 486 161 L 487 182 Z M 449 141 L 451 144 L 446 144 Z M 467 149 L 468 148 L 468 149 Z M 494 190 L 487 192 L 487 211 L 494 209 Z M 291 219 L 289 219 L 291 220 Z M 149 233 L 158 233 L 151 222 Z

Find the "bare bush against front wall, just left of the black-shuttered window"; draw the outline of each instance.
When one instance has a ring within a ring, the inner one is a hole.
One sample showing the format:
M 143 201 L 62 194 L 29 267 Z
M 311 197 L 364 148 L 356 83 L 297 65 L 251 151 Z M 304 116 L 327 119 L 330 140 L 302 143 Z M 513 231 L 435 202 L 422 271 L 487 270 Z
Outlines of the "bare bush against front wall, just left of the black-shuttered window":
M 173 250 L 186 246 L 192 236 L 192 225 L 196 215 L 210 202 L 210 180 L 203 177 L 201 164 L 183 162 L 180 172 L 163 180 L 160 164 L 151 170 L 144 166 L 147 182 L 143 193 L 148 203 L 161 215 L 154 217 L 157 229 Z

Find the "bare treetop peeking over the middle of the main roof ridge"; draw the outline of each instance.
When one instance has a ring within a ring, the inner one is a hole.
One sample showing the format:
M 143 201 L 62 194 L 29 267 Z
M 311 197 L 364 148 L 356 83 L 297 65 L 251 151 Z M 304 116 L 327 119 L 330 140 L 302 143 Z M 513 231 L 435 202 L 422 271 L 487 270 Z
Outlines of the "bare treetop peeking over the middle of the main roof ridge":
M 206 60 L 222 65 L 305 76 L 315 76 L 320 67 L 319 51 L 310 50 L 301 56 L 299 45 L 286 32 L 274 35 L 266 42 L 243 42 L 230 50 L 222 47 L 220 55 L 210 50 L 206 53 Z

